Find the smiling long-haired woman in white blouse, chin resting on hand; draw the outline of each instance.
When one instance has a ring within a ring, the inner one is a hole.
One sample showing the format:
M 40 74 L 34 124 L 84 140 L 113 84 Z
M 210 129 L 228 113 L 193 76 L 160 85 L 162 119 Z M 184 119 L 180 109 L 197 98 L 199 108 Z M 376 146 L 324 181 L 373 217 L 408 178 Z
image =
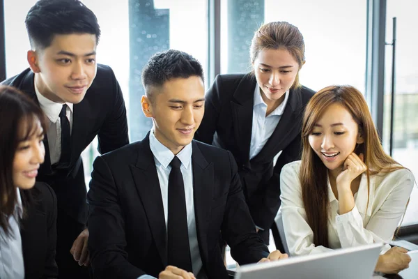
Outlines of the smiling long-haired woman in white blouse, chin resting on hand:
M 309 101 L 302 160 L 281 172 L 281 213 L 291 255 L 387 243 L 405 213 L 415 179 L 382 149 L 362 93 L 328 86 Z M 382 254 L 390 246 L 386 244 Z M 408 266 L 406 250 L 380 257 L 377 270 Z M 394 264 L 398 261 L 398 264 Z

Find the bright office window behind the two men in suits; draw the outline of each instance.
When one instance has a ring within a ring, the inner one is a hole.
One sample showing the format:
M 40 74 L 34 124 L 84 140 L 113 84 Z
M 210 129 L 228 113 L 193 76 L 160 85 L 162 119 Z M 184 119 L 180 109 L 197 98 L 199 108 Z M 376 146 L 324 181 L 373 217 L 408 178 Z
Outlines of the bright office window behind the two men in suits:
M 102 30 L 98 63 L 114 70 L 125 105 L 130 142 L 142 140 L 152 126 L 141 111 L 141 70 L 152 54 L 173 48 L 192 54 L 208 67 L 207 0 L 82 0 L 98 17 Z M 29 65 L 30 49 L 24 27 L 26 13 L 36 0 L 4 0 L 6 31 L 6 76 L 12 77 Z M 97 139 L 82 153 L 86 183 L 98 155 Z

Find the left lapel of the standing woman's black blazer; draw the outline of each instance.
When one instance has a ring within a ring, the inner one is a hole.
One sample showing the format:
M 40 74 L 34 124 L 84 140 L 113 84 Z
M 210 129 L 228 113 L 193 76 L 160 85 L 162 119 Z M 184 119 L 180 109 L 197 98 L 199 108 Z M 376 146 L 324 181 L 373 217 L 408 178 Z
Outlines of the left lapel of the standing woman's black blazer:
M 254 106 L 254 89 L 256 78 L 247 74 L 242 77 L 231 101 L 233 128 L 237 141 L 241 163 L 249 161 L 249 146 L 251 144 L 252 116 Z

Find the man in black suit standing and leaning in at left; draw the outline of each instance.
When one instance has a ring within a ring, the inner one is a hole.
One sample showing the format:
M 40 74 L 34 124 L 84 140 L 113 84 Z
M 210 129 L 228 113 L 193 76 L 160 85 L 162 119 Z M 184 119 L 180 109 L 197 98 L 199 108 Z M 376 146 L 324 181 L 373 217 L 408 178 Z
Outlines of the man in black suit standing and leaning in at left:
M 40 0 L 25 22 L 30 68 L 3 84 L 24 91 L 47 115 L 45 163 L 37 180 L 52 186 L 58 200 L 60 278 L 88 278 L 80 267 L 89 262 L 80 154 L 96 135 L 100 153 L 129 143 L 123 95 L 111 68 L 95 62 L 100 27 L 82 2 Z

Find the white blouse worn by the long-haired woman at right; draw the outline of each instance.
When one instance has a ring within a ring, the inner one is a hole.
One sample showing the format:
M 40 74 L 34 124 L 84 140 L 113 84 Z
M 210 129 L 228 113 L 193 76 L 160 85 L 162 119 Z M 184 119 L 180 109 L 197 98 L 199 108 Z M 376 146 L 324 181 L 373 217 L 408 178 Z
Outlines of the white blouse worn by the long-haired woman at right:
M 339 201 L 335 198 L 328 179 L 330 248 L 315 246 L 314 233 L 307 223 L 302 201 L 299 173 L 300 161 L 288 163 L 281 170 L 281 214 L 284 233 L 291 255 L 320 253 L 336 248 L 348 248 L 369 243 L 388 243 L 406 210 L 415 178 L 408 169 L 370 176 L 369 204 L 367 204 L 367 176 L 362 174 L 359 190 L 354 195 L 352 211 L 339 215 Z M 385 244 L 381 253 L 389 250 Z

